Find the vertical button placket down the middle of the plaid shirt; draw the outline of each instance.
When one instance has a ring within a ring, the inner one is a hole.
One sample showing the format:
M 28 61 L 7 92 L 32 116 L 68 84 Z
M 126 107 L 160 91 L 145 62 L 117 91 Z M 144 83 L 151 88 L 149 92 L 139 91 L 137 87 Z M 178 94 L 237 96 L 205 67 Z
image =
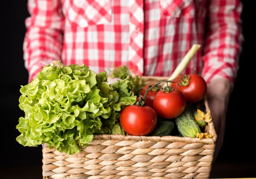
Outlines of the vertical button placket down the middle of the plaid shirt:
M 143 0 L 129 0 L 130 13 L 130 44 L 129 67 L 132 73 L 142 75 L 144 72 L 143 39 L 144 39 L 144 10 Z

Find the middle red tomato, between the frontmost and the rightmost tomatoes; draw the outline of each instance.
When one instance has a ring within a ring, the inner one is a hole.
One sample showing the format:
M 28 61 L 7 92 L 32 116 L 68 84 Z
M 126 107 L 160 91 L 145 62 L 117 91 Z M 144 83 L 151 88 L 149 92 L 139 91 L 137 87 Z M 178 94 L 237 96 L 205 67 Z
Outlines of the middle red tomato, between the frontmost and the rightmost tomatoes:
M 153 107 L 157 115 L 172 119 L 184 111 L 186 99 L 184 94 L 176 89 L 171 92 L 159 91 L 153 100 Z

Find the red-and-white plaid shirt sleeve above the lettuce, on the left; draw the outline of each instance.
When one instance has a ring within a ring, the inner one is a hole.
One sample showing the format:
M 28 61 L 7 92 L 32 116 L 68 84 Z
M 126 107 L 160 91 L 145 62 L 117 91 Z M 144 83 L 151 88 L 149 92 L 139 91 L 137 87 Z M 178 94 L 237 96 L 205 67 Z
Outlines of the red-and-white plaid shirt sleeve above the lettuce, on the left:
M 64 18 L 60 0 L 28 0 L 30 17 L 23 43 L 29 82 L 45 65 L 61 60 Z

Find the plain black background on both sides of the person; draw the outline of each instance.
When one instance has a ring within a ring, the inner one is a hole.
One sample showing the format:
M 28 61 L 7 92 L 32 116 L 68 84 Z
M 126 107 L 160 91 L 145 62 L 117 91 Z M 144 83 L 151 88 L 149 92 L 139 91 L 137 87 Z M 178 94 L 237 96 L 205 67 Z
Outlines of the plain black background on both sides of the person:
M 240 70 L 227 111 L 225 140 L 213 165 L 214 178 L 256 177 L 255 125 L 255 9 L 243 2 L 245 42 L 240 57 Z M 0 38 L 0 176 L 3 178 L 42 178 L 41 147 L 23 147 L 16 142 L 18 119 L 24 116 L 18 107 L 20 85 L 26 85 L 22 43 L 25 35 L 27 0 L 5 0 L 1 3 Z M 0 177 L 0 178 L 2 178 Z

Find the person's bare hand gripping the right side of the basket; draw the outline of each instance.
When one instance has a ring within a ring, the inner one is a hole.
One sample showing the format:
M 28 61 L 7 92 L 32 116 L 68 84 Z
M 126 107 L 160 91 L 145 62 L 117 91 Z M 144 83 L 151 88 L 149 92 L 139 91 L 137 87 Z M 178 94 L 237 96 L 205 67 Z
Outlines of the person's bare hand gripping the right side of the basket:
M 231 91 L 232 85 L 226 78 L 220 78 L 207 84 L 207 99 L 216 134 L 218 135 L 213 163 L 223 143 L 227 105 Z

